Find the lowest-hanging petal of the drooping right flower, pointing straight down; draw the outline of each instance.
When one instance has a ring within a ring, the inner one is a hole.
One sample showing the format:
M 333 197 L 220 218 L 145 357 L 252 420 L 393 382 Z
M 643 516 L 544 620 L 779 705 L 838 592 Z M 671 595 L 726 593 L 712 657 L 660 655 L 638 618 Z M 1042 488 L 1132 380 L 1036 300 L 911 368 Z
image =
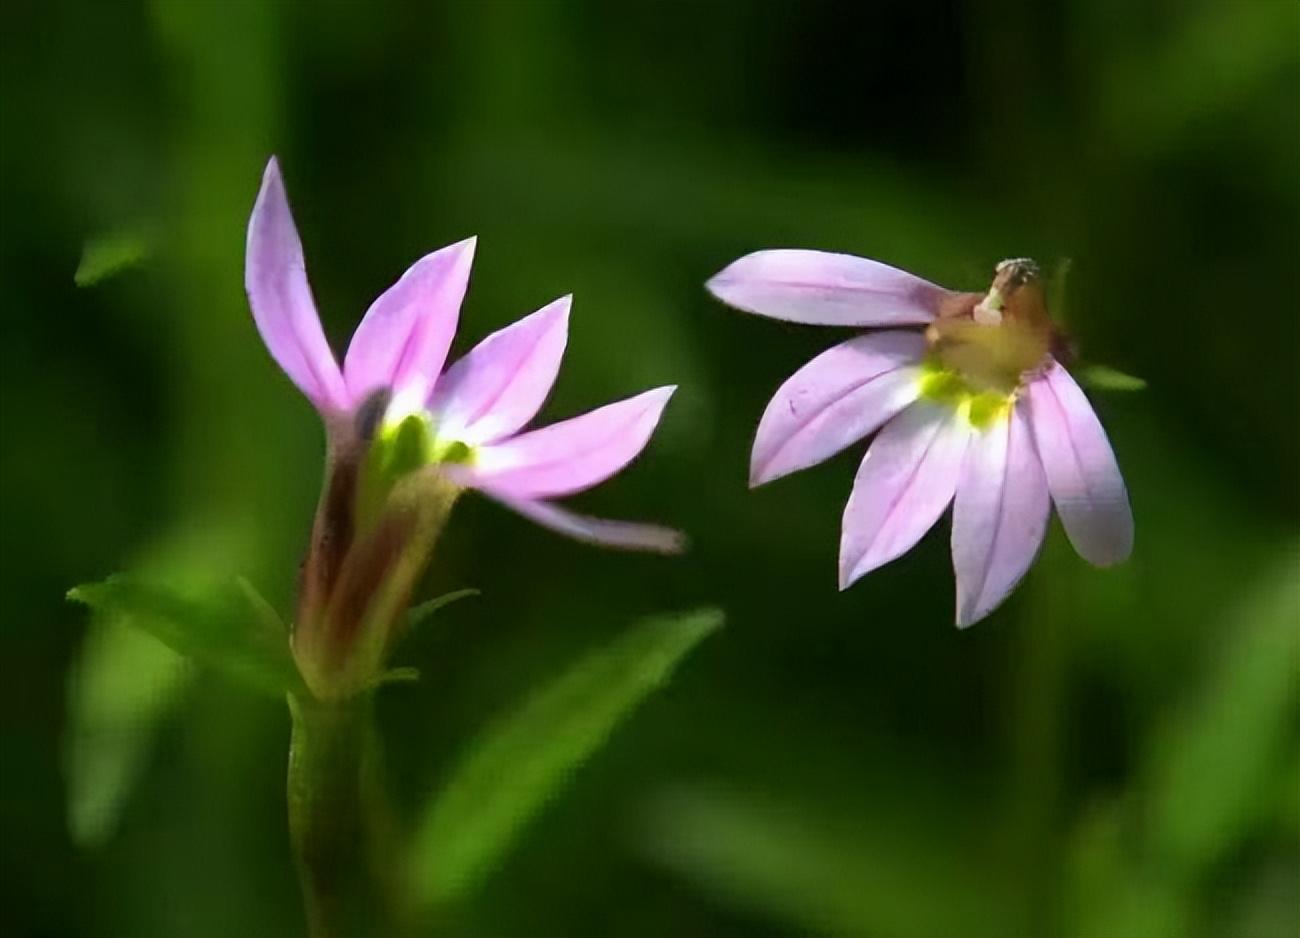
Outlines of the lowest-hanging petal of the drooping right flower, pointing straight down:
M 1052 500 L 1024 414 L 1013 408 L 971 437 L 953 501 L 957 625 L 996 609 L 1043 544 Z

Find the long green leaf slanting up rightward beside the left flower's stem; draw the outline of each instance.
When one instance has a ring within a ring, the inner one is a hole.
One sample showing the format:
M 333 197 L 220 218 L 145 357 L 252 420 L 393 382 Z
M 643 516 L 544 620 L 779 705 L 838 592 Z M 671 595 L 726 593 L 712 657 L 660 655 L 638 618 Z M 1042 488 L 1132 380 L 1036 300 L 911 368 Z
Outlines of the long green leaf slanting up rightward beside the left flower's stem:
M 473 889 L 573 769 L 722 622 L 716 609 L 642 620 L 490 726 L 424 812 L 415 894 L 438 904 Z

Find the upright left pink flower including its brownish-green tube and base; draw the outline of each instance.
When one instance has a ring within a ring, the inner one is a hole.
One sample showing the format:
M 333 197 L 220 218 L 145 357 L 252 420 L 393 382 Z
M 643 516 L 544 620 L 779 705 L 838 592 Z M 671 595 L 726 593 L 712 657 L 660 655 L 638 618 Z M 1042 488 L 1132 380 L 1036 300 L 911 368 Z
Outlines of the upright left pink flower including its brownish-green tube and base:
M 571 298 L 489 335 L 443 372 L 473 253 L 471 238 L 416 261 L 370 304 L 339 369 L 280 168 L 274 158 L 266 165 L 248 222 L 248 301 L 272 357 L 320 412 L 329 450 L 294 631 L 317 694 L 351 692 L 373 677 L 463 490 L 580 540 L 681 548 L 677 531 L 592 518 L 551 500 L 636 459 L 675 390 L 524 430 L 559 372 Z

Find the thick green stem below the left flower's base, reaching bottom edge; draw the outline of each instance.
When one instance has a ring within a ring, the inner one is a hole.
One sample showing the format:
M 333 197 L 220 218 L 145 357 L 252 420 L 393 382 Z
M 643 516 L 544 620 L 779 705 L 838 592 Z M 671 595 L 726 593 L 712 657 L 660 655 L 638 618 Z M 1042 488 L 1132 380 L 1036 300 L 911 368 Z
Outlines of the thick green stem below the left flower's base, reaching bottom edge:
M 361 870 L 361 765 L 367 698 L 322 703 L 289 698 L 289 837 L 311 938 L 339 938 Z

